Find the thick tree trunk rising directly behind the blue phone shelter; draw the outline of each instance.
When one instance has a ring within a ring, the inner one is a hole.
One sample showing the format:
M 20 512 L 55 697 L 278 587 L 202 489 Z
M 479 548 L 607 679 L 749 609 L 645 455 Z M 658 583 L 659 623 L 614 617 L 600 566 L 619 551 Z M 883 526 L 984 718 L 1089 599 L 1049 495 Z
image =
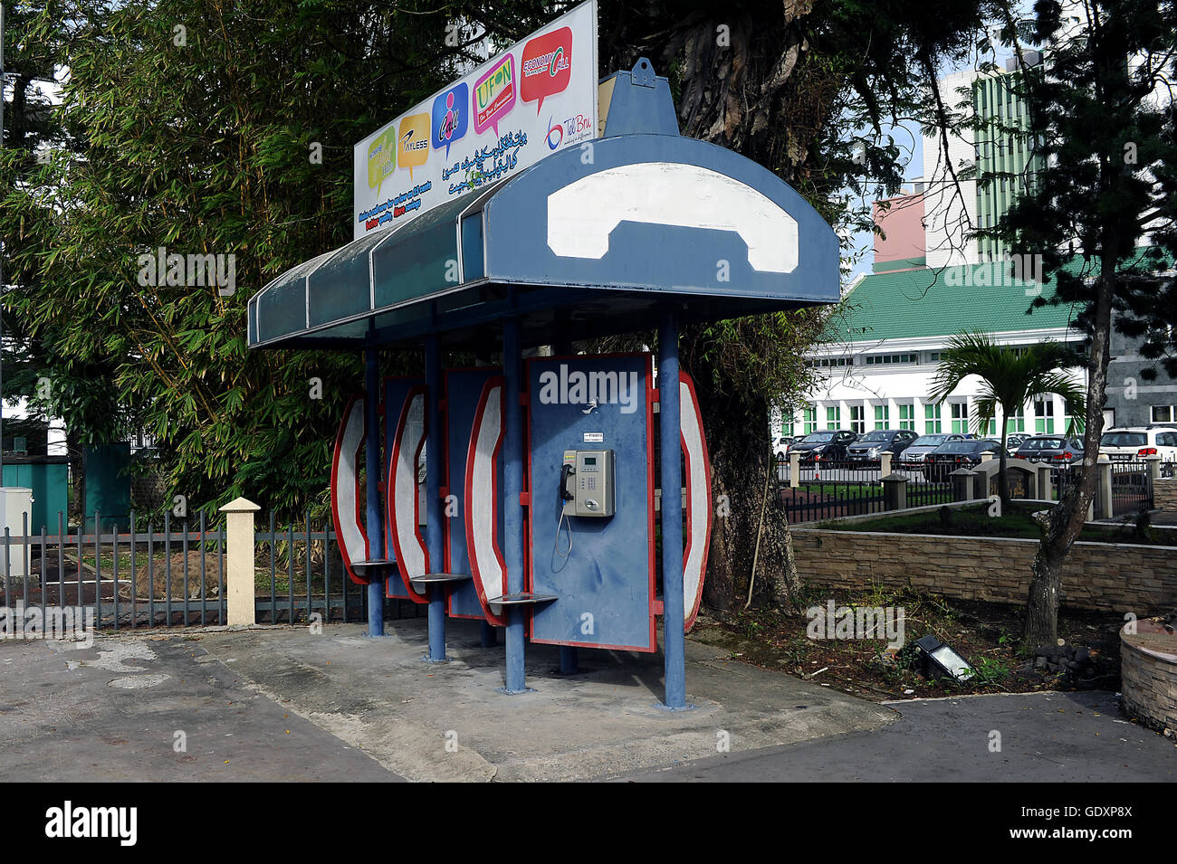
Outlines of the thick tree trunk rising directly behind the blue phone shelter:
M 807 47 L 797 20 L 809 12 L 804 4 L 786 2 L 778 14 L 758 20 L 704 13 L 683 20 L 658 52 L 665 63 L 681 62 L 683 134 L 730 147 L 797 183 L 840 86 L 836 74 L 812 74 L 813 86 L 800 95 L 786 86 L 794 83 L 793 71 Z M 730 41 L 720 40 L 720 33 Z M 605 48 L 606 55 L 612 53 Z M 624 68 L 633 58 L 612 60 Z M 770 441 L 769 398 L 777 394 L 749 396 L 746 389 L 739 394 L 736 387 L 713 386 L 729 380 L 722 362 L 709 362 L 717 348 L 705 330 L 683 334 L 711 450 L 716 503 L 703 598 L 717 610 L 743 607 L 754 560 L 753 602 L 780 607 L 796 594 L 797 568 Z

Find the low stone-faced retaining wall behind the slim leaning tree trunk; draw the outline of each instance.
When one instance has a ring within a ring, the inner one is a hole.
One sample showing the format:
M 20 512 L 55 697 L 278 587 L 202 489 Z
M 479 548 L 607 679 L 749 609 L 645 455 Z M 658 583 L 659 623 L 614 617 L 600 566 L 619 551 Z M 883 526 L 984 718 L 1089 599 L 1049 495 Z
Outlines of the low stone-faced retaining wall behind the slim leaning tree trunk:
M 827 588 L 878 583 L 945 597 L 1024 604 L 1036 540 L 793 528 L 797 570 Z M 1177 608 L 1177 549 L 1076 543 L 1063 571 L 1064 605 L 1161 615 Z

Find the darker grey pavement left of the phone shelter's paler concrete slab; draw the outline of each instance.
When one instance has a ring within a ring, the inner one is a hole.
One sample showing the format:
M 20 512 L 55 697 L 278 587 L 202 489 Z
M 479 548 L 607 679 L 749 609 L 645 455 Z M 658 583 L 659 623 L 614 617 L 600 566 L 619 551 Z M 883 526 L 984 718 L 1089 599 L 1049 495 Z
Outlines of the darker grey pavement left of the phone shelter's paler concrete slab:
M 388 779 L 199 642 L 0 642 L 0 782 Z

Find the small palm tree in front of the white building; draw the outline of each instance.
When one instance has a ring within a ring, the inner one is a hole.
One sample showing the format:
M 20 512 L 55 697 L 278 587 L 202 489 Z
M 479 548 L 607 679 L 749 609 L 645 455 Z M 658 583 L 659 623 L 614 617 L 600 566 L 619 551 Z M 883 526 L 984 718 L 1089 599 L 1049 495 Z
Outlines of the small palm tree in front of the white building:
M 930 398 L 943 402 L 970 375 L 982 381 L 977 400 L 977 426 L 982 433 L 1002 409 L 1002 453 L 998 464 L 997 494 L 1004 508 L 1010 502 L 1005 476 L 1006 420 L 1035 396 L 1057 394 L 1070 402 L 1071 415 L 1085 414 L 1085 390 L 1064 371 L 1078 366 L 1076 353 L 1062 342 L 1046 340 L 1012 350 L 998 344 L 988 333 L 964 333 L 949 340 L 940 351 L 939 367 L 932 380 Z M 1073 421 L 1072 421 L 1073 422 Z M 1068 430 L 1070 434 L 1070 430 Z

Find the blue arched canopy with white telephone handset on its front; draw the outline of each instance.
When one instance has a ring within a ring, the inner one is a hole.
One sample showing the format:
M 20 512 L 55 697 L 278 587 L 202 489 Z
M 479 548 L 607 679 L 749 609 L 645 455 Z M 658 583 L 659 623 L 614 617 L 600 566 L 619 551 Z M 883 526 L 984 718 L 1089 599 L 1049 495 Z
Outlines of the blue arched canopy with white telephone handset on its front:
M 832 303 L 838 240 L 792 188 L 731 150 L 632 134 L 519 174 L 284 273 L 250 300 L 250 347 L 526 344 Z

